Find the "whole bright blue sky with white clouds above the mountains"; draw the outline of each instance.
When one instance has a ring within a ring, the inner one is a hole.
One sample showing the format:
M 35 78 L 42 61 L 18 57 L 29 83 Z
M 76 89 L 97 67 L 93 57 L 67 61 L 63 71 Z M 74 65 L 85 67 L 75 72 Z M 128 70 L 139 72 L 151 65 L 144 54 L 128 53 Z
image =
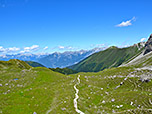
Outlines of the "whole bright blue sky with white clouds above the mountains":
M 152 33 L 152 0 L 0 0 L 0 54 L 123 47 Z

